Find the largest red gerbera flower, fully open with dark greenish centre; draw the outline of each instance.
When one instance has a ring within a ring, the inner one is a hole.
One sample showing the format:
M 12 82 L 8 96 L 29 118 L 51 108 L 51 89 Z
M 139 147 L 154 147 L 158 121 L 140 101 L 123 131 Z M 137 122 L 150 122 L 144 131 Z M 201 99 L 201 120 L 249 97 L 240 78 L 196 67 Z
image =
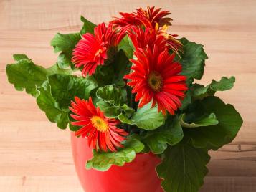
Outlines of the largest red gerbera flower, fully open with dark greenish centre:
M 174 115 L 187 90 L 186 77 L 179 75 L 181 64 L 174 62 L 175 54 L 170 55 L 168 49 L 159 51 L 157 45 L 153 52 L 147 47 L 136 49 L 134 54 L 137 59 L 131 59 L 133 72 L 124 78 L 131 80 L 127 84 L 133 87 L 135 100 L 140 101 L 138 107 L 153 100 L 152 107 L 157 103 L 159 112 L 166 114 L 167 110 Z

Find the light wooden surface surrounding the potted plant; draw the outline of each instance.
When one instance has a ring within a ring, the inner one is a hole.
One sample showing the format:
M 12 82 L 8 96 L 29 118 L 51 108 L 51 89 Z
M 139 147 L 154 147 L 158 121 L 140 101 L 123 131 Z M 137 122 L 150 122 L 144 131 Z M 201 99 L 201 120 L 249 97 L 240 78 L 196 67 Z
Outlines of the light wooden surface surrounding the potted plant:
M 0 191 L 82 191 L 69 131 L 49 123 L 33 97 L 7 82 L 12 54 L 48 67 L 57 60 L 50 39 L 78 31 L 81 14 L 99 23 L 146 5 L 171 10 L 171 32 L 205 45 L 202 82 L 237 77 L 233 90 L 217 95 L 234 104 L 245 123 L 232 144 L 211 153 L 202 191 L 256 191 L 255 0 L 0 0 Z

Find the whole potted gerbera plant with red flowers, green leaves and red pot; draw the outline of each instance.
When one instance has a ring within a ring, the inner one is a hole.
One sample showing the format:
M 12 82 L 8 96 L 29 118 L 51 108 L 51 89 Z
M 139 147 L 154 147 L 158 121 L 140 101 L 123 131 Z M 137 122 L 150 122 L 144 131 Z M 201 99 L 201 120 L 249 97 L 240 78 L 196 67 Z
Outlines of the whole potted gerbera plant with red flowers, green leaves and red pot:
M 194 83 L 207 54 L 167 32 L 169 14 L 148 7 L 98 25 L 81 17 L 80 32 L 52 39 L 60 52 L 52 67 L 24 54 L 6 66 L 16 90 L 25 89 L 51 122 L 72 131 L 87 192 L 199 191 L 208 150 L 240 130 L 239 113 L 214 96 L 231 89 L 234 77 Z

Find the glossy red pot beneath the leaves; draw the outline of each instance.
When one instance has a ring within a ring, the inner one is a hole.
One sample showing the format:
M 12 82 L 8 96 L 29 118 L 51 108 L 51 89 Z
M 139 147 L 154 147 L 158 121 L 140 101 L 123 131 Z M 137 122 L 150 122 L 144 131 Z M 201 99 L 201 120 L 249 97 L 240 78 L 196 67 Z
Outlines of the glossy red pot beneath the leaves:
M 108 171 L 86 170 L 86 160 L 92 158 L 92 148 L 86 138 L 71 133 L 72 153 L 77 175 L 85 192 L 163 192 L 156 175 L 160 159 L 151 153 L 137 154 L 131 163 L 123 167 L 113 165 Z

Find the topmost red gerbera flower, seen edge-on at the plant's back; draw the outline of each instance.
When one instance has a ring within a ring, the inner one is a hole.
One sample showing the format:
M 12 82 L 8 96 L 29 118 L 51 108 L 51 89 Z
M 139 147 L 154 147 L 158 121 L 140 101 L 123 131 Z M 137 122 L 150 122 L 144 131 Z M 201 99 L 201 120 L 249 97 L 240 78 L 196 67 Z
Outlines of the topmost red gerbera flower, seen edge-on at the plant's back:
M 169 11 L 161 11 L 161 8 L 155 9 L 155 6 L 147 7 L 147 10 L 142 8 L 137 9 L 134 13 L 122 13 L 120 15 L 122 17 L 115 17 L 113 23 L 120 26 L 125 27 L 127 25 L 144 25 L 145 27 L 155 28 L 156 24 L 159 26 L 163 25 L 171 25 L 172 19 L 169 17 L 165 17 L 171 14 Z

